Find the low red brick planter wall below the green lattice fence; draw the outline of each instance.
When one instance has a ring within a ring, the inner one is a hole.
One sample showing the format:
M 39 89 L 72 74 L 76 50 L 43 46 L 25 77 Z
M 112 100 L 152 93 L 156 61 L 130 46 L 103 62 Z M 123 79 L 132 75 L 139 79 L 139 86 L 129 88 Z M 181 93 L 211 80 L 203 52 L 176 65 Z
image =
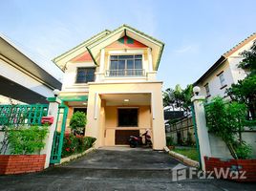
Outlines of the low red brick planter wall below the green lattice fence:
M 0 175 L 42 171 L 46 155 L 0 155 Z

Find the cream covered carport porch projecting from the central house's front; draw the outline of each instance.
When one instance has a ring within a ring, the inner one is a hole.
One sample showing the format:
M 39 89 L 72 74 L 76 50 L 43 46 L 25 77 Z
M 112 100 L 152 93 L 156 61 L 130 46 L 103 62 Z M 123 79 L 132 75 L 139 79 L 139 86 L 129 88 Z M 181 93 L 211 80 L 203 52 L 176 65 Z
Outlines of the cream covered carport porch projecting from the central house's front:
M 162 150 L 165 131 L 160 90 L 160 82 L 91 83 L 85 135 L 97 138 L 96 147 L 117 146 L 149 129 L 153 149 Z

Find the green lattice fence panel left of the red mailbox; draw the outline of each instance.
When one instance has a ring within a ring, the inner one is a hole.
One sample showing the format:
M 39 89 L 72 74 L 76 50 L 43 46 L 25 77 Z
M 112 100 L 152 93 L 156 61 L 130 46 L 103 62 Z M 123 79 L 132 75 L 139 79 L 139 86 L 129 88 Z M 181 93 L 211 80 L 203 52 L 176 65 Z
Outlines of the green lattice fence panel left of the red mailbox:
M 48 104 L 0 105 L 0 126 L 41 125 L 41 118 L 47 113 Z

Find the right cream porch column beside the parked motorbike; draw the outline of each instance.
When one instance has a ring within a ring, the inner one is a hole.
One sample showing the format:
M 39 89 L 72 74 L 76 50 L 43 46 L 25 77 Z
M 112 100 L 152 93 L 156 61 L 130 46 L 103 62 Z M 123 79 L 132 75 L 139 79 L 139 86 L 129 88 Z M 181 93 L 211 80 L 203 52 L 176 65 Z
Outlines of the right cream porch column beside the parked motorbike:
M 161 91 L 151 93 L 153 149 L 163 150 L 166 145 Z

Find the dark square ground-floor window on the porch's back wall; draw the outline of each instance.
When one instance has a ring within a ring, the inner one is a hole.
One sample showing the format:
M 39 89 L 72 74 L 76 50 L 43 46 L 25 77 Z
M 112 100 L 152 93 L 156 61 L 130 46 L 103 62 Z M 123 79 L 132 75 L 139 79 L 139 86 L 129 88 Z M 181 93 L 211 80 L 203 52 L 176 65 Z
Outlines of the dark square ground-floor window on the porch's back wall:
M 118 109 L 118 127 L 138 127 L 137 108 Z

